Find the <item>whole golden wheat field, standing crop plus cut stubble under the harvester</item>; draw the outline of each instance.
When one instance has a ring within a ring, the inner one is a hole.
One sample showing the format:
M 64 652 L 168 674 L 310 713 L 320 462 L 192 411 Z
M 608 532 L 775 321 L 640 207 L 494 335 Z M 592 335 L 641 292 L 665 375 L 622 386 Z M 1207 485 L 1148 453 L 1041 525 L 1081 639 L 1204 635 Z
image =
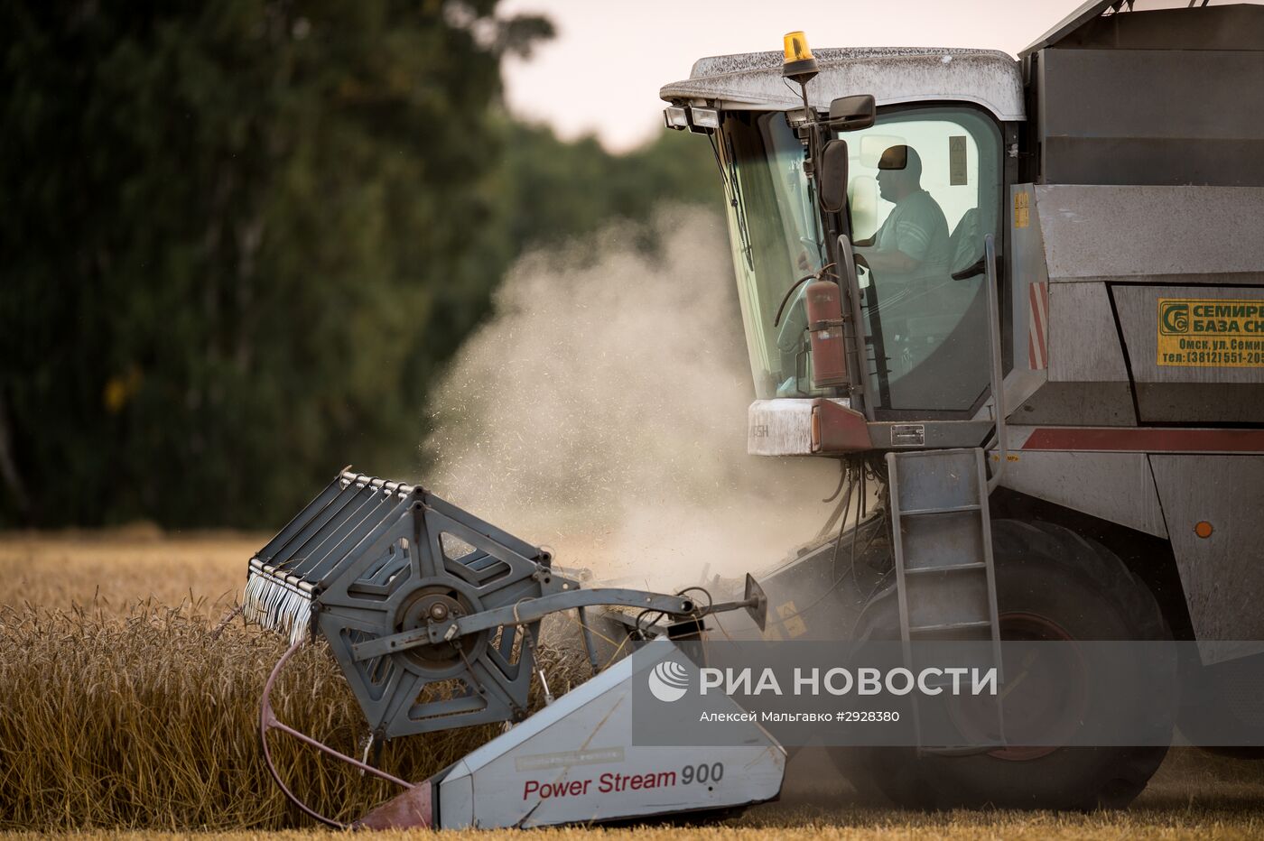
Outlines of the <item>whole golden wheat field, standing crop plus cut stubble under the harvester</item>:
M 85 840 L 324 832 L 284 802 L 259 758 L 259 691 L 284 641 L 240 617 L 220 621 L 265 540 L 143 527 L 0 534 L 0 831 Z M 578 671 L 575 654 L 545 645 L 541 658 L 565 678 Z M 319 645 L 300 653 L 274 700 L 283 720 L 355 751 L 359 710 Z M 421 779 L 494 732 L 397 740 L 383 766 Z M 288 740 L 273 744 L 282 773 L 327 813 L 353 818 L 389 793 Z M 1124 812 L 909 813 L 857 802 L 820 755 L 803 751 L 782 802 L 718 823 L 532 833 L 557 841 L 1264 837 L 1264 763 L 1176 749 Z

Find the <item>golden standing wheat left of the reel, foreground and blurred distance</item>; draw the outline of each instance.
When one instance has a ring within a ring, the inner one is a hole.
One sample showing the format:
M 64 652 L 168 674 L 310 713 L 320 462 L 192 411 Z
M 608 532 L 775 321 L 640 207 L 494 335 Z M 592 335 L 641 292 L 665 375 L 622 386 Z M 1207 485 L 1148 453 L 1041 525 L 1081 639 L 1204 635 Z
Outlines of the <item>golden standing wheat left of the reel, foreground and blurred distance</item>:
M 240 619 L 215 634 L 239 595 L 233 580 L 244 580 L 259 546 L 66 535 L 3 544 L 0 828 L 297 823 L 258 749 L 259 695 L 286 643 Z M 95 601 L 77 605 L 83 593 Z M 283 721 L 356 754 L 363 717 L 322 648 L 287 665 L 274 706 Z M 540 657 L 566 673 L 566 654 L 541 647 Z M 397 740 L 382 765 L 423 779 L 495 732 Z M 272 744 L 283 777 L 327 814 L 354 818 L 393 793 L 286 736 Z

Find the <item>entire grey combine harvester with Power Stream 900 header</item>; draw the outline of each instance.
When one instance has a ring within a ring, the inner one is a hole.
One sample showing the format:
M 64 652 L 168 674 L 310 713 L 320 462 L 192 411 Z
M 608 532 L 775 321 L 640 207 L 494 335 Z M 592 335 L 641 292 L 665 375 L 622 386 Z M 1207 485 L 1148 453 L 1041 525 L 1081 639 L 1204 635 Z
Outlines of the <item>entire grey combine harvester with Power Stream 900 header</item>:
M 1259 658 L 1232 641 L 1264 639 L 1261 44 L 1264 8 L 1095 0 L 1019 61 L 813 56 L 793 33 L 784 54 L 704 58 L 664 87 L 669 128 L 707 135 L 723 176 L 750 452 L 838 460 L 834 516 L 741 597 L 702 605 L 583 588 L 420 487 L 339 475 L 252 559 L 248 615 L 296 645 L 321 634 L 374 739 L 516 722 L 430 780 L 396 779 L 404 793 L 362 825 L 776 797 L 786 754 L 758 725 L 739 748 L 631 739 L 635 674 L 720 614 L 750 639 L 1196 640 L 1181 669 L 1218 692 L 1158 724 L 1198 744 L 1200 722 L 1241 716 Z M 594 677 L 528 715 L 541 619 L 566 610 Z M 599 621 L 652 641 L 607 665 Z M 1107 713 L 1092 693 L 1042 703 L 1007 665 L 1007 731 Z M 287 730 L 267 697 L 260 724 Z M 1129 803 L 1165 750 L 837 759 L 899 804 L 1091 808 Z M 699 764 L 731 770 L 685 773 Z

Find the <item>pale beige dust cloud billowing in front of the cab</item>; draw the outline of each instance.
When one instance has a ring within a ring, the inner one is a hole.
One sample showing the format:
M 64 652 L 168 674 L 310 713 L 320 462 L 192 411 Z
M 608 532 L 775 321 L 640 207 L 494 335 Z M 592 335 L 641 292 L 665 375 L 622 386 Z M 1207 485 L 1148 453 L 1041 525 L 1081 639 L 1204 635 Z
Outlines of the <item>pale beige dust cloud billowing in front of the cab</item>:
M 722 221 L 661 213 L 527 255 L 434 391 L 427 486 L 555 563 L 666 590 L 820 529 L 834 462 L 746 455 L 753 399 Z

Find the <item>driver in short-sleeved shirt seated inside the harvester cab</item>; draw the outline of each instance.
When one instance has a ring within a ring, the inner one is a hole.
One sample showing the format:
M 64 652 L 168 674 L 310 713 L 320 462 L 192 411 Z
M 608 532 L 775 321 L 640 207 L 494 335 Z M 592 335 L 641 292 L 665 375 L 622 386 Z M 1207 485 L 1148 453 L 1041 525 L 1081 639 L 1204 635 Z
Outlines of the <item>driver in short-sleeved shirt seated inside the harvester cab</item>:
M 948 220 L 921 189 L 921 157 L 906 145 L 890 146 L 877 163 L 880 196 L 895 203 L 882 227 L 856 244 L 856 255 L 875 280 L 913 282 L 948 274 Z

